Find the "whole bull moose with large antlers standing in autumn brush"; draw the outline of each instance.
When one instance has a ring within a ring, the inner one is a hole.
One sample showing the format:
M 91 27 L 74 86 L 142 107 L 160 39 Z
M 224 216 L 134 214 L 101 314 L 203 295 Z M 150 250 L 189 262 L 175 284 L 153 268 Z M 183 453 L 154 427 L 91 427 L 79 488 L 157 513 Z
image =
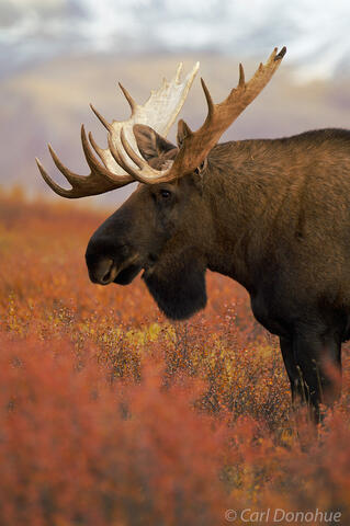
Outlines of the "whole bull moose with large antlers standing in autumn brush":
M 140 271 L 171 319 L 206 304 L 205 272 L 236 279 L 249 293 L 256 319 L 280 338 L 292 398 L 319 403 L 340 395 L 341 344 L 350 338 L 350 132 L 319 129 L 280 139 L 217 144 L 280 66 L 275 48 L 246 82 L 214 104 L 206 84 L 204 124 L 178 123 L 177 146 L 165 136 L 192 84 L 197 65 L 137 104 L 121 85 L 132 115 L 109 123 L 109 148 L 81 128 L 88 176 L 56 167 L 71 185 L 46 183 L 68 198 L 139 182 L 91 237 L 90 279 L 129 284 Z M 102 163 L 93 153 L 91 146 Z M 336 374 L 335 374 L 336 371 Z

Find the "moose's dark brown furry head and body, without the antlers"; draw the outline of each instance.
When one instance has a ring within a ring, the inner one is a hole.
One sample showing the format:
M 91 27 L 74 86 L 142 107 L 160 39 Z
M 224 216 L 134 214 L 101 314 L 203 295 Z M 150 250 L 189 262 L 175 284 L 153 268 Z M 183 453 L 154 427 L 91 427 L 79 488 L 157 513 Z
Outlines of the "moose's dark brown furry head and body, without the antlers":
M 177 153 L 153 130 L 136 138 L 156 168 Z M 205 306 L 206 268 L 236 279 L 280 336 L 293 397 L 317 411 L 340 392 L 334 373 L 350 332 L 350 132 L 221 144 L 196 172 L 138 186 L 91 238 L 91 278 L 110 283 L 103 259 L 122 268 L 115 283 L 144 268 L 173 319 Z

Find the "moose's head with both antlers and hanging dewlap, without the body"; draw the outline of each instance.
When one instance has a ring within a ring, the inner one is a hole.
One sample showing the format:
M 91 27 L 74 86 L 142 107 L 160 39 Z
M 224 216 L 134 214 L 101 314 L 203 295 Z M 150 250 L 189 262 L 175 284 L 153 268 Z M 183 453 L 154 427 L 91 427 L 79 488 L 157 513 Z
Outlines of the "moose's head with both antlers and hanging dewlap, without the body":
M 108 129 L 109 148 L 100 148 L 81 128 L 81 141 L 91 173 L 78 175 L 66 168 L 52 147 L 58 170 L 71 188 L 58 186 L 37 160 L 46 183 L 58 195 L 78 198 L 120 188 L 137 181 L 131 197 L 91 237 L 86 260 L 93 283 L 129 284 L 143 278 L 159 308 L 172 319 L 184 319 L 206 304 L 205 271 L 230 273 L 224 215 L 229 199 L 229 151 L 217 145 L 223 133 L 261 92 L 281 64 L 285 48 L 275 48 L 246 82 L 239 81 L 227 99 L 214 104 L 202 80 L 207 103 L 204 124 L 192 132 L 178 123 L 177 146 L 165 136 L 176 119 L 199 65 L 180 82 L 180 69 L 170 83 L 153 92 L 144 106 L 121 85 L 132 115 L 127 122 L 109 123 L 92 107 Z M 92 152 L 91 146 L 103 164 Z M 224 184 L 224 179 L 226 183 Z M 230 226 L 235 228 L 234 225 Z

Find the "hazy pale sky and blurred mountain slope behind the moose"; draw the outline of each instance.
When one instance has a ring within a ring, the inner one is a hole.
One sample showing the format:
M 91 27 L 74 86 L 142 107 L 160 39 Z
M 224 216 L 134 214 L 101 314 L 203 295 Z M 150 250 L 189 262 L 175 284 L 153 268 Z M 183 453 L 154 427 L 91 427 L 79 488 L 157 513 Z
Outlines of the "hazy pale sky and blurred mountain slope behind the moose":
M 72 170 L 88 173 L 80 124 L 105 145 L 89 102 L 110 121 L 125 118 L 116 81 L 144 102 L 180 60 L 187 68 L 201 61 L 219 101 L 237 82 L 240 60 L 252 73 L 274 46 L 286 45 L 271 84 L 224 138 L 349 127 L 349 22 L 348 0 L 0 0 L 0 184 L 48 194 L 34 162 L 39 157 L 61 181 L 47 141 Z M 182 110 L 194 128 L 206 111 L 199 77 Z M 92 199 L 123 197 L 125 191 Z

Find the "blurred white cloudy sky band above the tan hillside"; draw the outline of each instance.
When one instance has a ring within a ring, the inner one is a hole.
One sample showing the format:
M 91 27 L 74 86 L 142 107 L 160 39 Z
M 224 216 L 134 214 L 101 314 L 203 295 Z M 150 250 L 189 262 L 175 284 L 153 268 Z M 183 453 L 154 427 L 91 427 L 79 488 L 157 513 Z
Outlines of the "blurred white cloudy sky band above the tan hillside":
M 349 76 L 349 0 L 0 0 L 0 71 L 65 54 L 245 58 L 286 45 L 301 81 Z

